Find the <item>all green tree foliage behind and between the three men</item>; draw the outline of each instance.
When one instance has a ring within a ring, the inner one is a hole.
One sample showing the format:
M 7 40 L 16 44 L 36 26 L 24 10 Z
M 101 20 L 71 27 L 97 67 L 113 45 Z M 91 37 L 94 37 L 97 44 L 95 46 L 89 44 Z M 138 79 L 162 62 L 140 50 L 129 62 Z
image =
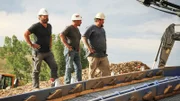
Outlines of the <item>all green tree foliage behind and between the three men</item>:
M 62 44 L 58 35 L 52 35 L 53 45 L 52 52 L 58 65 L 58 75 L 63 76 L 65 73 L 65 57 L 63 55 L 64 45 Z M 34 36 L 31 36 L 31 40 L 34 40 Z M 85 51 L 83 44 L 81 43 L 80 56 L 82 67 L 86 68 L 88 65 L 87 59 L 85 58 Z M 31 48 L 25 41 L 18 40 L 15 35 L 12 37 L 5 37 L 4 46 L 0 51 L 0 58 L 6 60 L 7 68 L 12 70 L 12 74 L 16 77 L 29 82 L 31 80 L 32 73 L 32 55 Z M 50 77 L 50 69 L 45 62 L 42 62 L 40 80 L 48 80 Z

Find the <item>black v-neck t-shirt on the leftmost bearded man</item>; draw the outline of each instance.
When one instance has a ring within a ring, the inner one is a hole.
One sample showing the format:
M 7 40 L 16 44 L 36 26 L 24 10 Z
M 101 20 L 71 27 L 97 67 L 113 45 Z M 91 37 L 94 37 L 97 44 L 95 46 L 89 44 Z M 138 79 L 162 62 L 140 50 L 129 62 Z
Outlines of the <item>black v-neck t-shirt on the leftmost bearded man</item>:
M 52 33 L 51 25 L 47 24 L 47 28 L 45 28 L 40 22 L 38 22 L 33 24 L 28 30 L 35 35 L 35 43 L 41 46 L 37 51 L 49 52 Z

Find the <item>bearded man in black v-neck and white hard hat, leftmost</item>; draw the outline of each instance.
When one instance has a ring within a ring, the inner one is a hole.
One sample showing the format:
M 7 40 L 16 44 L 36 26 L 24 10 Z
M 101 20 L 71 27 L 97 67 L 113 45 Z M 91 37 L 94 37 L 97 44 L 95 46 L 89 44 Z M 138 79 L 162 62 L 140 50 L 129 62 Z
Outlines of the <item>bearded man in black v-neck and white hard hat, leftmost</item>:
M 33 48 L 34 69 L 32 73 L 33 87 L 39 88 L 39 73 L 42 60 L 44 60 L 51 69 L 52 84 L 59 85 L 57 75 L 57 64 L 54 60 L 52 47 L 52 26 L 48 23 L 48 12 L 45 8 L 39 10 L 39 22 L 33 24 L 24 34 L 26 42 Z M 34 34 L 35 42 L 30 40 L 30 35 Z

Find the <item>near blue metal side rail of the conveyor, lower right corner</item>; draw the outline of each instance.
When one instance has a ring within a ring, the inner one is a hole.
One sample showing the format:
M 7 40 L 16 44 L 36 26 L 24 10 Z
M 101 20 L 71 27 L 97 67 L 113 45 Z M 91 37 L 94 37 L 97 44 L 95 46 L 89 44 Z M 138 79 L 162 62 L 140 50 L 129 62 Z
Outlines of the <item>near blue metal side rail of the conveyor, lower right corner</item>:
M 180 90 L 180 77 L 171 77 L 141 86 L 132 87 L 124 91 L 116 91 L 112 94 L 100 96 L 89 101 L 154 101 L 161 99 L 158 96 L 178 92 Z M 179 93 L 179 92 L 178 92 Z

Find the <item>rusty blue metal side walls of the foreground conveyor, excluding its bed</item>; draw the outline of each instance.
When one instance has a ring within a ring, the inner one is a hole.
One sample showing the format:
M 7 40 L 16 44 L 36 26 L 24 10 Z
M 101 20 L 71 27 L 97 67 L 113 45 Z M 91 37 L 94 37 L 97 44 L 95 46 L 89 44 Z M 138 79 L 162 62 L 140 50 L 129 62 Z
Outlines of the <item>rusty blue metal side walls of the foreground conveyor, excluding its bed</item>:
M 42 89 L 29 93 L 24 93 L 15 96 L 9 96 L 0 98 L 0 101 L 46 101 L 57 98 L 63 98 L 65 96 L 82 93 L 88 90 L 96 90 L 108 86 L 114 86 L 118 84 L 124 84 L 131 81 L 138 81 L 146 78 L 153 78 L 156 76 L 174 76 L 170 79 L 160 80 L 153 83 L 145 84 L 139 87 L 133 87 L 126 91 L 115 92 L 113 94 L 105 95 L 92 101 L 142 101 L 143 97 L 155 97 L 166 92 L 172 92 L 172 89 L 176 88 L 176 91 L 180 89 L 180 66 L 165 67 L 159 69 L 151 69 L 145 71 L 132 72 L 127 74 L 120 74 L 116 76 L 101 77 L 73 83 L 69 85 L 63 85 L 59 87 L 53 87 L 48 89 Z M 179 86 L 178 86 L 179 85 Z M 179 88 L 178 88 L 179 87 Z M 149 98 L 149 99 L 150 99 Z M 123 100 L 122 100 L 123 99 Z M 147 100 L 148 101 L 148 100 Z

